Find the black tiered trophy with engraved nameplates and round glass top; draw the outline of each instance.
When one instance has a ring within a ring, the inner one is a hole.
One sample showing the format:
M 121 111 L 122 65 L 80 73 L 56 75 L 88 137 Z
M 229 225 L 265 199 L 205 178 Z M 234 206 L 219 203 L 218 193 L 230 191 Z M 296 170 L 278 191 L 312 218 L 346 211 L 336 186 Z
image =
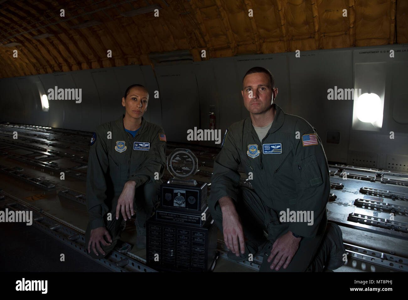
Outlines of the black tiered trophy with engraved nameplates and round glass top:
M 177 148 L 167 157 L 173 176 L 160 186 L 161 201 L 146 222 L 147 264 L 172 271 L 208 271 L 215 265 L 217 228 L 207 206 L 207 184 L 191 179 L 198 159 Z

